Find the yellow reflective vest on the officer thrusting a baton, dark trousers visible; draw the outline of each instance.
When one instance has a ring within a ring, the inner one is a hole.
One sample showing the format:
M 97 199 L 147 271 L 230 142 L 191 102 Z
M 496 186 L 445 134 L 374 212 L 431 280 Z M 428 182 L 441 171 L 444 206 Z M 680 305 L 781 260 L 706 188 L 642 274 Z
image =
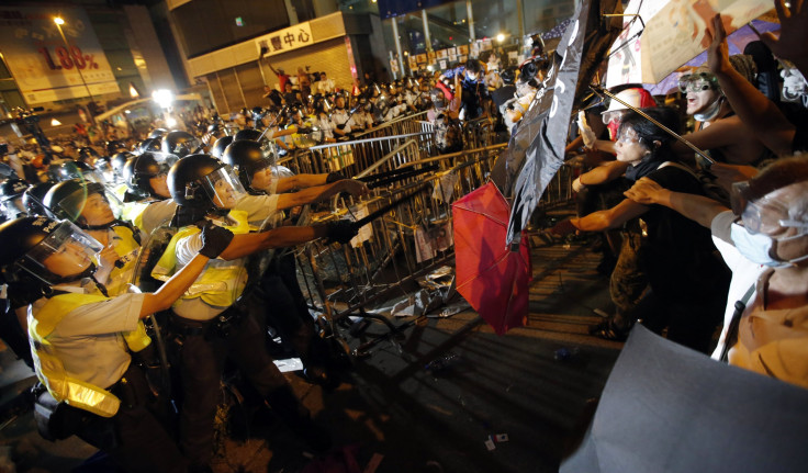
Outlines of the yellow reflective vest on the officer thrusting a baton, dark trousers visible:
M 236 225 L 224 225 L 225 228 L 235 235 L 247 234 L 252 229 L 247 218 L 249 214 L 245 211 L 231 211 L 228 216 L 236 222 Z M 195 235 L 201 230 L 194 225 L 180 228 L 166 247 L 166 252 L 152 270 L 152 277 L 167 281 L 177 271 L 177 243 L 182 238 Z M 229 263 L 217 260 L 215 264 L 207 263 L 204 272 L 197 278 L 191 288 L 186 291 L 180 299 L 189 300 L 200 297 L 206 304 L 216 307 L 229 307 L 242 295 L 247 278 L 245 277 L 245 268 L 243 261 L 236 260 Z

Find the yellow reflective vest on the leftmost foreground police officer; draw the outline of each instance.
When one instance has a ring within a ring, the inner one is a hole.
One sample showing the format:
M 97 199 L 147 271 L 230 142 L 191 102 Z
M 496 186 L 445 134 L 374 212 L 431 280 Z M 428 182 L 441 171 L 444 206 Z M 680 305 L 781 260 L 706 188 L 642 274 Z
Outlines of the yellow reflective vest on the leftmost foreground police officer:
M 65 371 L 65 364 L 56 354 L 56 350 L 48 341 L 48 337 L 59 325 L 65 315 L 76 308 L 109 297 L 96 294 L 59 294 L 47 300 L 34 315 L 29 325 L 29 336 L 34 353 L 36 375 L 47 391 L 58 402 L 79 409 L 88 410 L 101 417 L 112 417 L 121 405 L 114 394 L 99 386 L 72 378 Z M 138 328 L 124 335 L 124 340 L 132 351 L 139 351 L 152 341 L 138 322 Z

